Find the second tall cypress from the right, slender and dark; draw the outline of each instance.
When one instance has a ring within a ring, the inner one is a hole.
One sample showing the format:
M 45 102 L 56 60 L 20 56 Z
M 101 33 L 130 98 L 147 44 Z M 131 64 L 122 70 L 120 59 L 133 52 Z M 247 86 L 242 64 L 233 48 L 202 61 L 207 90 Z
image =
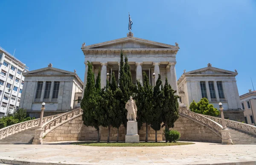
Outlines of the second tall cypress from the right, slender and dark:
M 157 142 L 157 130 L 161 129 L 161 124 L 163 122 L 162 107 L 163 107 L 164 92 L 163 90 L 160 90 L 161 86 L 162 86 L 161 75 L 158 74 L 158 79 L 153 90 L 154 108 L 152 112 L 153 121 L 151 122 L 151 128 L 155 130 L 155 142 Z

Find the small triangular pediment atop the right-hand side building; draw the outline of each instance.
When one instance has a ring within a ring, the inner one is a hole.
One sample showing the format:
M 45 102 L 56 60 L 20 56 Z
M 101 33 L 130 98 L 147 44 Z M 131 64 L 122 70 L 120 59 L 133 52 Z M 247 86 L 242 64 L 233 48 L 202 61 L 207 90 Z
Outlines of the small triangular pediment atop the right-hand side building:
M 232 72 L 229 70 L 219 69 L 215 67 L 205 67 L 202 69 L 192 70 L 186 72 L 185 75 L 237 75 L 237 72 Z

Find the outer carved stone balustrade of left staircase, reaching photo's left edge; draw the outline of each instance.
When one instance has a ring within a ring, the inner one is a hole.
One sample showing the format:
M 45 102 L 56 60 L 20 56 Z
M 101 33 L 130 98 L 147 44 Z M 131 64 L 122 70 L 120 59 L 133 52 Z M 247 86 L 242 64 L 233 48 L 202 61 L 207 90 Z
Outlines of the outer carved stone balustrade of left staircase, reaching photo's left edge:
M 59 115 L 60 114 L 44 117 L 43 118 L 43 124 L 49 122 L 50 120 L 54 119 L 55 117 L 57 117 Z M 9 135 L 12 135 L 14 133 L 20 132 L 22 130 L 26 130 L 26 129 L 29 129 L 29 128 L 32 128 L 32 127 L 38 127 L 39 120 L 40 120 L 40 118 L 29 120 L 29 121 L 26 121 L 26 122 L 13 124 L 13 125 L 10 125 L 8 127 L 4 127 L 2 129 L 0 129 L 0 139 L 3 139 L 6 136 L 9 136 Z

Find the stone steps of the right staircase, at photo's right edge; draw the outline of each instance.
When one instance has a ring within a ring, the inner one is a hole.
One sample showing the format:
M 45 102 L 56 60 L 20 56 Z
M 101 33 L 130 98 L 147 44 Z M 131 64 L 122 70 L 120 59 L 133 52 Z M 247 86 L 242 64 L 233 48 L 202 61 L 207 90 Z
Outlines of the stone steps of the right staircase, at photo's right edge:
M 234 145 L 256 145 L 255 135 L 230 127 L 228 129 Z

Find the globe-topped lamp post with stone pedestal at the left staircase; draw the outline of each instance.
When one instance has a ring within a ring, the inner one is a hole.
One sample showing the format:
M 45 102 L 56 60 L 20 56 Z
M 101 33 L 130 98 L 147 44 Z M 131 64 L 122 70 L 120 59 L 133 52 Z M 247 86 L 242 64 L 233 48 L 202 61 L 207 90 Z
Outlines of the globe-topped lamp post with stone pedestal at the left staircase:
M 42 103 L 39 125 L 38 125 L 38 129 L 35 130 L 35 136 L 34 136 L 32 145 L 43 144 L 44 130 L 42 129 L 42 125 L 43 125 L 43 118 L 44 118 L 44 110 L 45 110 L 45 103 Z

